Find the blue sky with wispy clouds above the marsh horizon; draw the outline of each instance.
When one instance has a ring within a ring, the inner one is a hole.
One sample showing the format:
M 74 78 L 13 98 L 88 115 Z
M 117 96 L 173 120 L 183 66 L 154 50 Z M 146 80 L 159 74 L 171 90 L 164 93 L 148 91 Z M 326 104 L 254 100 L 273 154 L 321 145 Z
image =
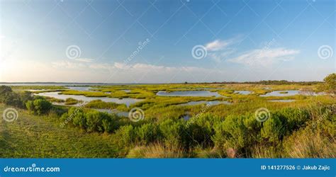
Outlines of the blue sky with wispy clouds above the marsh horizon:
M 336 68 L 335 9 L 331 0 L 5 0 L 0 81 L 320 81 Z

